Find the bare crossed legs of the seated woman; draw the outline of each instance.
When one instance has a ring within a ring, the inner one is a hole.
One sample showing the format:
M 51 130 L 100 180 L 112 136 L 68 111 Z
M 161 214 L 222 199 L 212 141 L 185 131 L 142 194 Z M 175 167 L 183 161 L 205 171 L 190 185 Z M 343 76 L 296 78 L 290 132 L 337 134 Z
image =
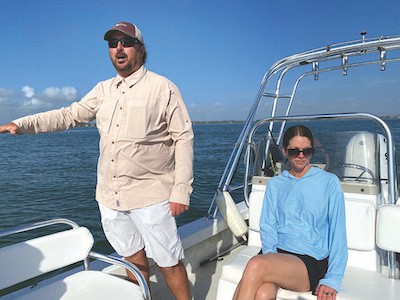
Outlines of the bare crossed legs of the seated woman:
M 310 290 L 303 261 L 290 254 L 257 255 L 248 262 L 233 299 L 257 299 L 256 295 L 275 299 L 279 287 L 297 292 Z

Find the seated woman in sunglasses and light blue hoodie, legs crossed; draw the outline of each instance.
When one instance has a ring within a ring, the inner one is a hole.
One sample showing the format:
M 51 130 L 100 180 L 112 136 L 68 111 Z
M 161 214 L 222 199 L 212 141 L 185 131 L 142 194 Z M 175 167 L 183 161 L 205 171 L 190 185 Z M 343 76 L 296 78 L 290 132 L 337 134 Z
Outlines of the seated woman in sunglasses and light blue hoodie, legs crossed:
M 336 299 L 347 263 L 344 196 L 334 174 L 310 165 L 313 146 L 307 127 L 285 132 L 290 170 L 268 183 L 262 254 L 247 264 L 233 299 L 276 299 L 279 288 Z

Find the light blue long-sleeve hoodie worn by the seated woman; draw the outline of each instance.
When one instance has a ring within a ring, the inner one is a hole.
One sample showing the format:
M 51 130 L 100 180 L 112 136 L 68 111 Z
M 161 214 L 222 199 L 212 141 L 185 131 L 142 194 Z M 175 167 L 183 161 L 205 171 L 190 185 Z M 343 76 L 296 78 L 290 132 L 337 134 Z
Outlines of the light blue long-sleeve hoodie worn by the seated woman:
M 264 254 L 279 248 L 317 260 L 329 257 L 328 272 L 319 284 L 339 291 L 347 240 L 344 195 L 336 175 L 312 167 L 301 178 L 288 171 L 271 178 L 260 229 Z

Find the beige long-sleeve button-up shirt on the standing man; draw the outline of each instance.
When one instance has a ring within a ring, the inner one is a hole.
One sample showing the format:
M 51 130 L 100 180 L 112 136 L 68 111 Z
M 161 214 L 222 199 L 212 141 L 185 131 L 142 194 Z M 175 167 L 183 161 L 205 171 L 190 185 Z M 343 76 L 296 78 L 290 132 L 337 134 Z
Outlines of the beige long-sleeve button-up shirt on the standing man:
M 189 205 L 192 122 L 178 88 L 142 66 L 98 83 L 79 102 L 13 121 L 20 133 L 66 130 L 96 119 L 96 199 L 116 210 L 169 199 Z

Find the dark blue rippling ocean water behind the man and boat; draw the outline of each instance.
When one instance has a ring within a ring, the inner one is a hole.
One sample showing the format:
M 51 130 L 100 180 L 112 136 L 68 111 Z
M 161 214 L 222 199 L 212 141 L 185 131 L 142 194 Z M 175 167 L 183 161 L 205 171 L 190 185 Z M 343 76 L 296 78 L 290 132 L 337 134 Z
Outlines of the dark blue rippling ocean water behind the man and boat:
M 390 119 L 387 123 L 399 143 L 400 120 Z M 194 125 L 194 190 L 191 208 L 178 216 L 178 226 L 206 216 L 242 125 Z M 359 129 L 368 126 L 360 125 Z M 310 123 L 309 127 L 321 140 L 333 130 L 326 123 Z M 357 129 L 352 123 L 343 122 L 335 130 L 349 128 Z M 0 135 L 0 229 L 67 218 L 92 231 L 96 251 L 113 252 L 102 232 L 94 199 L 98 142 L 95 127 L 38 135 Z M 13 240 L 13 236 L 1 238 L 0 247 Z

